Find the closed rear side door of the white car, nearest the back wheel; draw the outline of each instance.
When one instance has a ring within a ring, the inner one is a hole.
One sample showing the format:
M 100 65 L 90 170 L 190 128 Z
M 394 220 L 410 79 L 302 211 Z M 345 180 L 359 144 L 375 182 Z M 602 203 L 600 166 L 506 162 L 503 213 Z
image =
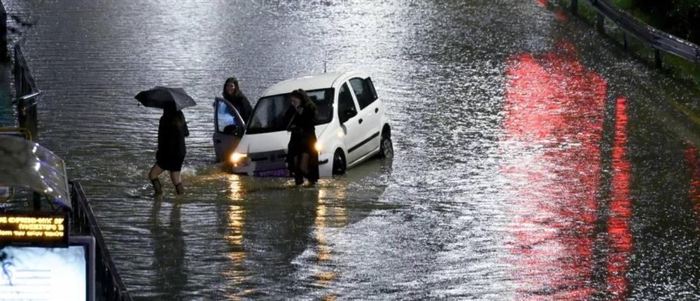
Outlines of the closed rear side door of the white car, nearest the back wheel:
M 351 78 L 349 83 L 360 109 L 357 121 L 361 139 L 360 144 L 356 146 L 356 152 L 361 158 L 379 148 L 381 130 L 379 110 L 381 108 L 380 102 L 376 102 L 377 95 L 374 93 L 370 78 Z

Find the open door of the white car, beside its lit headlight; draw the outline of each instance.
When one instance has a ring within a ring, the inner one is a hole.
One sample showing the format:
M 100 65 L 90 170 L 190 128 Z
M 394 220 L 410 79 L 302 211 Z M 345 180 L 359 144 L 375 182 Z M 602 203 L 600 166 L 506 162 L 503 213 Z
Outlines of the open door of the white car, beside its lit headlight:
M 238 146 L 246 125 L 238 110 L 227 100 L 214 99 L 214 152 L 216 162 L 225 161 Z

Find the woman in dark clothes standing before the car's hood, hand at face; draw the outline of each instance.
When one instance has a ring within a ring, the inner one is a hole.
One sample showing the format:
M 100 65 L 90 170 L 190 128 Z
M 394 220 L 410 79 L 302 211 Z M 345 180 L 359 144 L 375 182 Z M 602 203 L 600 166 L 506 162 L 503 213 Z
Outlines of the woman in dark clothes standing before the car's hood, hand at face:
M 316 104 L 304 90 L 290 94 L 292 106 L 287 110 L 287 130 L 291 132 L 287 146 L 287 165 L 295 183 L 302 185 L 304 178 L 311 184 L 318 181 L 318 151 L 316 151 Z

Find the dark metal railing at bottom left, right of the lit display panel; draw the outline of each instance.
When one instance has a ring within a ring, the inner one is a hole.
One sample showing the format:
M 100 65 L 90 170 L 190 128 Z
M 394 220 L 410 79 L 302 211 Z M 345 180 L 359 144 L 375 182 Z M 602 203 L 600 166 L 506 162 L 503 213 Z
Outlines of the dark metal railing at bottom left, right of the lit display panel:
M 133 301 L 112 261 L 102 231 L 99 230 L 97 220 L 87 202 L 87 197 L 85 197 L 83 186 L 80 186 L 78 181 L 71 181 L 70 186 L 73 205 L 71 227 L 73 231 L 89 233 L 97 244 L 95 248 L 97 255 L 95 258 L 95 279 L 99 289 L 97 295 L 102 295 L 109 301 Z

